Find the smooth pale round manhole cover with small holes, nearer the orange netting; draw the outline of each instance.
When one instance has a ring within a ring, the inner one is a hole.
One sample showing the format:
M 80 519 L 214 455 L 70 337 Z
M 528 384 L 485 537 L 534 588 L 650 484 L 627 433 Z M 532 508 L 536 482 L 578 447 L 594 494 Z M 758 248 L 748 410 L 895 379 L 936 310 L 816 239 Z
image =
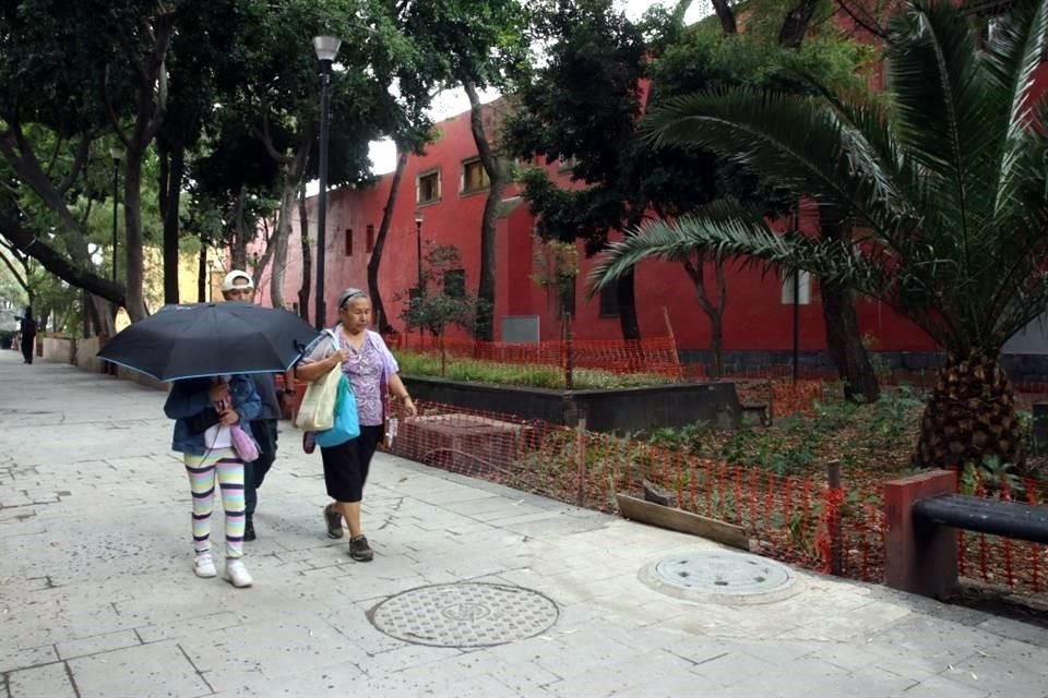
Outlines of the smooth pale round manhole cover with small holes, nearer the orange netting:
M 680 599 L 718 603 L 769 603 L 800 591 L 786 565 L 728 551 L 682 553 L 641 570 L 641 581 Z

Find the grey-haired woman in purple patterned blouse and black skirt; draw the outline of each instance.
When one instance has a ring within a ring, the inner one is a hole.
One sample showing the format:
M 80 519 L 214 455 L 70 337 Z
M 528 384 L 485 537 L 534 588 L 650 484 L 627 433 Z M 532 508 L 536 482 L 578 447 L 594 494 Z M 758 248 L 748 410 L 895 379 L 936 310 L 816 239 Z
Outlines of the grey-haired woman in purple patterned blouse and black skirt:
M 371 324 L 371 299 L 367 292 L 349 288 L 338 297 L 338 324 L 332 334 L 324 334 L 307 348 L 296 374 L 303 381 L 315 381 L 335 368 L 349 380 L 357 398 L 360 435 L 340 446 L 321 446 L 324 483 L 334 500 L 324 507 L 327 535 L 342 538 L 342 519 L 349 526 L 349 556 L 368 562 L 374 553 L 360 526 L 360 502 L 368 479 L 371 457 L 382 438 L 382 424 L 390 394 L 403 404 L 408 417 L 416 413 L 415 404 L 397 375 L 396 360 L 382 336 L 368 329 Z M 312 453 L 312 434 L 303 442 Z

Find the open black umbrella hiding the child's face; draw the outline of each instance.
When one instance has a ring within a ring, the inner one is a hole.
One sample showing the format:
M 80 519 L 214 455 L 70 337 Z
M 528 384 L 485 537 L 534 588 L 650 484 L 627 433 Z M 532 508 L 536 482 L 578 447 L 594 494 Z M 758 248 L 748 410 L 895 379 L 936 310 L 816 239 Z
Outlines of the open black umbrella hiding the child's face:
M 275 373 L 294 365 L 317 334 L 295 313 L 252 303 L 165 305 L 119 333 L 98 357 L 158 381 Z

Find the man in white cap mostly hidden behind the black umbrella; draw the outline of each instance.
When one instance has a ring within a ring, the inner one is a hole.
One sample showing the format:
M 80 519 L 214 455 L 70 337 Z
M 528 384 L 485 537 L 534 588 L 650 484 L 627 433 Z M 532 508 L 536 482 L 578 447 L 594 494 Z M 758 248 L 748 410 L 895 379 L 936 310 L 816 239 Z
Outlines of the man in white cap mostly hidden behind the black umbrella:
M 254 302 L 254 280 L 247 272 L 234 269 L 222 282 L 222 297 L 227 301 Z M 276 395 L 275 375 L 272 373 L 252 373 L 254 389 L 262 400 L 262 409 L 251 420 L 251 433 L 259 442 L 259 458 L 243 464 L 243 498 L 247 504 L 247 519 L 243 525 L 243 540 L 253 541 L 254 510 L 259 505 L 259 488 L 265 481 L 266 473 L 276 460 L 277 421 L 281 419 L 281 401 Z M 295 394 L 295 382 L 290 371 L 285 374 L 285 399 Z

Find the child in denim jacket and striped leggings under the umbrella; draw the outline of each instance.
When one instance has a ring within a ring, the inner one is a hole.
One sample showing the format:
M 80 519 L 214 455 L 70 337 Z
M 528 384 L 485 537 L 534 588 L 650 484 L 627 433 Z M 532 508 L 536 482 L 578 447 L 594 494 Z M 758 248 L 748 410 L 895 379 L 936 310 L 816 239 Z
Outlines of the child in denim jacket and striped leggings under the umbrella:
M 175 420 L 171 448 L 182 454 L 193 497 L 193 571 L 217 574 L 211 555 L 211 515 L 215 486 L 226 513 L 226 578 L 250 587 L 243 565 L 243 461 L 233 448 L 229 428 L 247 424 L 261 409 L 254 382 L 246 375 L 176 381 L 164 405 Z

